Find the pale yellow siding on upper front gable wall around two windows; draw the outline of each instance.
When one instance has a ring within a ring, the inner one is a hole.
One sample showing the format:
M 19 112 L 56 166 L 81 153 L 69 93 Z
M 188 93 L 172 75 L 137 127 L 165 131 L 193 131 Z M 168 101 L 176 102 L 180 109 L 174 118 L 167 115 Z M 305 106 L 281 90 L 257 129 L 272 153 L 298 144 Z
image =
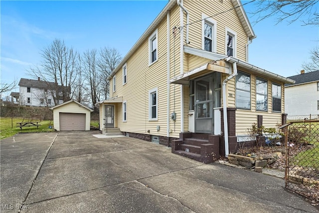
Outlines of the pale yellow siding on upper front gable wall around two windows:
M 202 13 L 211 16 L 233 8 L 233 4 L 230 0 L 223 2 L 218 0 L 196 2 L 197 3 L 194 3 L 194 1 L 191 0 L 183 1 L 183 6 L 189 12 L 189 23 L 200 20 Z M 212 19 L 217 21 L 217 52 L 225 54 L 225 27 L 228 27 L 237 33 L 237 58 L 246 61 L 246 44 L 248 37 L 236 11 L 232 9 L 221 15 L 213 16 Z M 186 20 L 186 17 L 184 17 L 184 20 Z M 183 32 L 186 32 L 186 27 L 183 27 Z M 187 44 L 188 46 L 201 49 L 201 21 L 189 25 L 189 41 L 190 44 Z

